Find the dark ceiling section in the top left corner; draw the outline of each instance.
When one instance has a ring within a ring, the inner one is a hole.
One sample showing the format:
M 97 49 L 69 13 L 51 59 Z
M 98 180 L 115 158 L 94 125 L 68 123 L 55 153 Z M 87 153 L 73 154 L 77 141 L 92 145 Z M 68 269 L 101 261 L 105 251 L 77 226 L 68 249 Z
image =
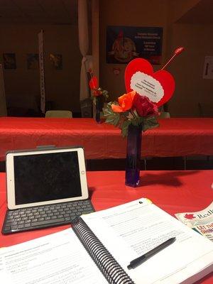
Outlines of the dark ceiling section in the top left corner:
M 0 23 L 77 23 L 77 0 L 0 0 Z

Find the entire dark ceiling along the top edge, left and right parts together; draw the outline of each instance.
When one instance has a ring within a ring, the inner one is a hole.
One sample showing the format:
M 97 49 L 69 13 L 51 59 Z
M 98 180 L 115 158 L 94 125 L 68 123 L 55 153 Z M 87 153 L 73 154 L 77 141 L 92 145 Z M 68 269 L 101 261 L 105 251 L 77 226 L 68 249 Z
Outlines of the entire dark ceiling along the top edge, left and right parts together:
M 90 22 L 91 0 L 87 3 Z M 77 0 L 0 0 L 0 23 L 75 25 Z M 177 23 L 213 24 L 213 0 L 200 0 Z

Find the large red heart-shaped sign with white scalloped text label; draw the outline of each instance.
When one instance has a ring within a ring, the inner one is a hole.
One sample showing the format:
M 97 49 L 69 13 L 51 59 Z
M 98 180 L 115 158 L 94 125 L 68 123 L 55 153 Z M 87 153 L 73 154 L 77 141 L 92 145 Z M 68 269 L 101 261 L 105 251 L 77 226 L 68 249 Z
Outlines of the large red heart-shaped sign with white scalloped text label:
M 126 92 L 136 91 L 155 102 L 158 107 L 168 102 L 175 91 L 175 80 L 168 71 L 153 72 L 150 62 L 143 58 L 131 60 L 125 70 Z

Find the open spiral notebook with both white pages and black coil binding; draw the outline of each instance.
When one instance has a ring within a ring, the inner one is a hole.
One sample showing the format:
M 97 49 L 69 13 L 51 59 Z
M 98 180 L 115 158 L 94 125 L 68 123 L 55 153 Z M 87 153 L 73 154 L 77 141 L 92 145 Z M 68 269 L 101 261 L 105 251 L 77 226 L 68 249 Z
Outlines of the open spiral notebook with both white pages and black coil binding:
M 129 262 L 176 241 L 137 268 Z M 0 250 L 4 283 L 195 283 L 213 270 L 213 244 L 147 199 L 82 215 L 72 229 Z M 30 278 L 29 278 L 30 275 Z

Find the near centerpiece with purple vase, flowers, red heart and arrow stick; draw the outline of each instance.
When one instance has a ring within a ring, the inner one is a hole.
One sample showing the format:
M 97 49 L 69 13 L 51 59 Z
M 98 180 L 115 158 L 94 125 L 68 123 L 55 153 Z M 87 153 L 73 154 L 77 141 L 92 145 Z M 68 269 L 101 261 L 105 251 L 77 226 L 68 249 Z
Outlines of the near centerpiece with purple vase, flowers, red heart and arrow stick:
M 129 62 L 125 70 L 127 93 L 118 102 L 109 102 L 104 107 L 106 122 L 121 129 L 127 136 L 126 185 L 136 187 L 140 182 L 141 133 L 159 126 L 158 107 L 168 102 L 175 90 L 175 80 L 163 70 L 168 63 L 182 52 L 178 48 L 164 67 L 153 72 L 151 64 L 143 58 Z

